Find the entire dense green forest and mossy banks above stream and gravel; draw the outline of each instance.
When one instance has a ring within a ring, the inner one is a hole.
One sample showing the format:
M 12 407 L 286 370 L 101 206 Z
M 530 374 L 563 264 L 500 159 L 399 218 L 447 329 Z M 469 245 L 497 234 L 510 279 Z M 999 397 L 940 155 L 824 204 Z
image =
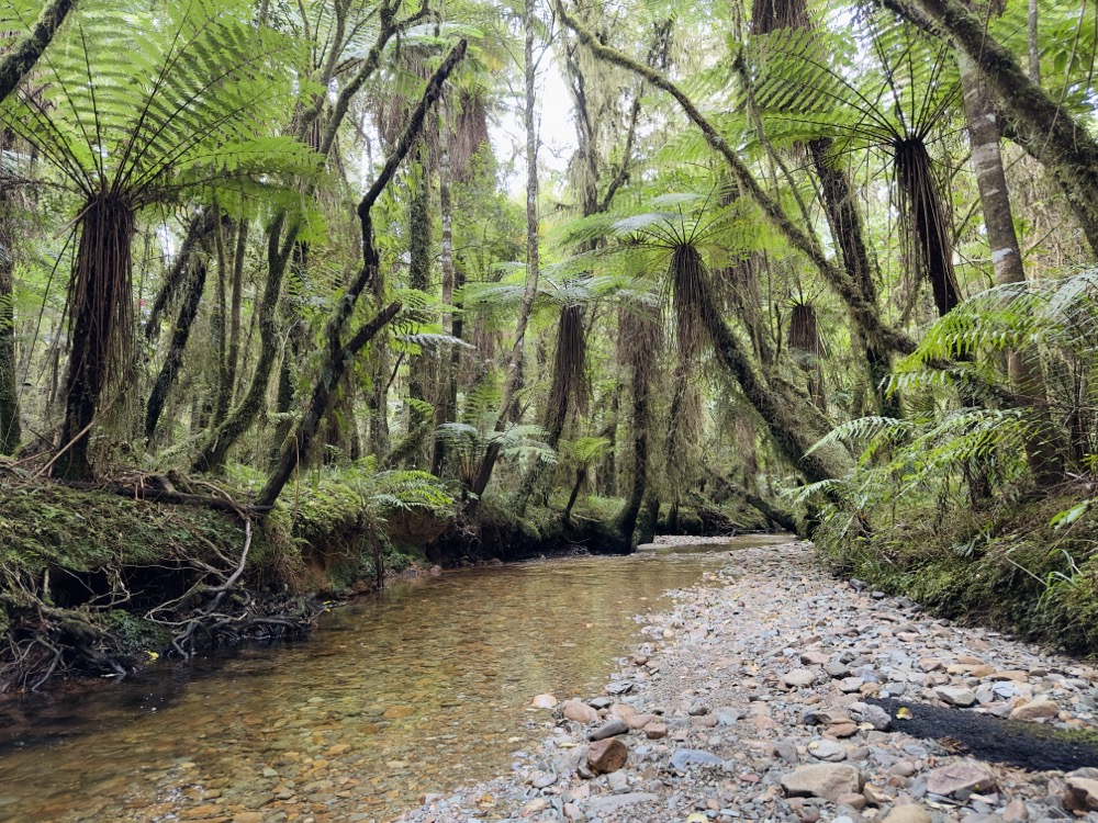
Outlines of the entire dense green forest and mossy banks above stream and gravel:
M 9 0 L 0 680 L 658 530 L 795 530 L 1098 650 L 1096 36 L 1082 1 Z

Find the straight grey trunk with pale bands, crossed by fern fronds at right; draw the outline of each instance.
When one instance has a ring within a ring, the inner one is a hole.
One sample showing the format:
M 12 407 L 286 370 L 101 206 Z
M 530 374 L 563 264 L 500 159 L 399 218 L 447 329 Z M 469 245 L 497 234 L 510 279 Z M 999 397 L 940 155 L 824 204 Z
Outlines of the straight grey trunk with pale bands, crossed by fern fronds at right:
M 1002 154 L 999 150 L 998 119 L 975 61 L 965 52 L 959 52 L 957 66 L 961 69 L 961 86 L 964 89 L 972 166 L 979 189 L 984 225 L 987 227 L 995 282 L 997 285 L 1024 283 L 1026 270 L 1022 266 L 1018 236 L 1015 234 L 1007 176 L 1002 168 Z M 1007 371 L 1019 401 L 1031 406 L 1043 424 L 1041 427 L 1043 431 L 1026 442 L 1030 470 L 1040 483 L 1054 483 L 1063 472 L 1056 449 L 1049 437 L 1052 426 L 1049 420 L 1047 396 L 1040 363 L 1026 353 L 1010 352 L 1007 356 Z

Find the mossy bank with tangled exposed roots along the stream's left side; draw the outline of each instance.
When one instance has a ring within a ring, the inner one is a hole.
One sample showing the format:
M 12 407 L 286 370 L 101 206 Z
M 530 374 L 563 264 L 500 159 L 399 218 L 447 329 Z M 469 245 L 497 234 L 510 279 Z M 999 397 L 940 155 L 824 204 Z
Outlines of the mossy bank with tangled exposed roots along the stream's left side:
M 304 633 L 324 608 L 317 594 L 367 591 L 417 562 L 631 549 L 615 529 L 621 500 L 586 498 L 565 520 L 562 501 L 519 515 L 508 497 L 490 495 L 470 520 L 422 485 L 404 486 L 403 499 L 429 504 L 405 505 L 392 487 L 379 491 L 377 476 L 363 485 L 355 473 L 317 473 L 259 517 L 0 471 L 0 691 L 63 673 L 122 676 L 165 653 Z M 245 500 L 246 485 L 214 491 Z M 753 509 L 701 497 L 658 515 L 650 508 L 650 530 L 765 526 Z

